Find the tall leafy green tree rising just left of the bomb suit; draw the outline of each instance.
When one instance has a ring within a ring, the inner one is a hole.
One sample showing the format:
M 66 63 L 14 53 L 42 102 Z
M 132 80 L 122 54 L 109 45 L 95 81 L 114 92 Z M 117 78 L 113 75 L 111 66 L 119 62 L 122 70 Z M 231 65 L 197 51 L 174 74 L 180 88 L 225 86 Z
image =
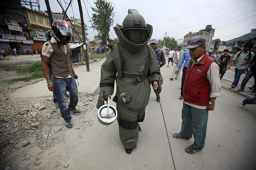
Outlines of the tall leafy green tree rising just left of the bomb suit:
M 99 33 L 98 37 L 101 40 L 100 45 L 105 46 L 107 40 L 109 41 L 110 27 L 114 23 L 114 7 L 111 2 L 105 0 L 96 0 L 94 2 L 96 7 L 91 7 L 92 11 L 92 28 L 96 29 Z

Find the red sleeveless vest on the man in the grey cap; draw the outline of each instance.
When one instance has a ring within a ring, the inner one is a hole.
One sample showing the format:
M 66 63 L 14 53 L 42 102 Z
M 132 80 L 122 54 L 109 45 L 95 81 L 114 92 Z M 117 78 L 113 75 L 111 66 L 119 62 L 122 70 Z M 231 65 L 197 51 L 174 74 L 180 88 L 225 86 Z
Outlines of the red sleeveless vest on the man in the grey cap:
M 213 61 L 215 60 L 209 57 L 207 52 L 199 63 L 193 65 L 191 70 L 192 60 L 190 61 L 183 85 L 183 98 L 185 102 L 199 106 L 207 106 L 211 87 L 206 75 Z

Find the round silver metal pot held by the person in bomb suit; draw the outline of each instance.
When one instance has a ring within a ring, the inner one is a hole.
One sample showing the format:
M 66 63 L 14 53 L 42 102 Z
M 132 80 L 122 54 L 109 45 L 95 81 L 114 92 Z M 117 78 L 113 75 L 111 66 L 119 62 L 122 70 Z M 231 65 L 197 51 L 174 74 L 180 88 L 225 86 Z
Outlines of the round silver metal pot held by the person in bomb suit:
M 117 110 L 114 106 L 110 105 L 110 99 L 108 97 L 107 104 L 104 104 L 98 109 L 97 118 L 102 125 L 110 125 L 117 118 Z

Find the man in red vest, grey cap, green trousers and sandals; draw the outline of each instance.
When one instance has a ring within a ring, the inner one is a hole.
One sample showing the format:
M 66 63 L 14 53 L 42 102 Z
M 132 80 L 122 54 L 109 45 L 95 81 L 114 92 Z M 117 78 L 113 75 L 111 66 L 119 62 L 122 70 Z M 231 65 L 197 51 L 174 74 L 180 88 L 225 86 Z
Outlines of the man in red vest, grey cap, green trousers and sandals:
M 194 136 L 193 145 L 185 149 L 188 153 L 196 153 L 204 147 L 208 121 L 208 111 L 213 111 L 215 100 L 220 96 L 219 65 L 205 52 L 206 39 L 194 37 L 187 46 L 191 60 L 186 70 L 183 85 L 182 124 L 180 133 L 174 138 L 190 139 Z

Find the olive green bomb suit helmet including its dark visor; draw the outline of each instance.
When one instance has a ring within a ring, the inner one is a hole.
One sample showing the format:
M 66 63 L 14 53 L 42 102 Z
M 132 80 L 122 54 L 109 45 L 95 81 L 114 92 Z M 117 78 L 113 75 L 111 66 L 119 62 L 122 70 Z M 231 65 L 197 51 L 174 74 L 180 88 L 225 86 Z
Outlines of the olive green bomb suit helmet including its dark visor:
M 124 18 L 122 26 L 124 37 L 128 41 L 134 44 L 143 44 L 147 40 L 147 24 L 137 10 L 128 10 L 128 15 Z

